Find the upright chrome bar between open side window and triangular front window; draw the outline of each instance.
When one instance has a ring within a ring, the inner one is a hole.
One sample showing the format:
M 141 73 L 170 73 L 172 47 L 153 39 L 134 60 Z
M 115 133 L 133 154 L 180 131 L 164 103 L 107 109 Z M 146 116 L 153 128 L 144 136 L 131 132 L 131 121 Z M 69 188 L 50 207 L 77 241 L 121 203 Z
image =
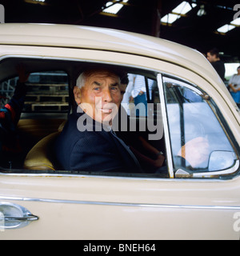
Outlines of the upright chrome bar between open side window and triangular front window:
M 170 174 L 170 178 L 174 178 L 174 164 L 173 164 L 173 156 L 172 156 L 172 146 L 170 144 L 170 132 L 168 129 L 167 122 L 167 114 L 166 114 L 166 98 L 163 89 L 162 82 L 162 74 L 158 74 L 158 90 L 160 94 L 160 101 L 162 107 L 162 121 L 163 121 L 163 129 L 165 135 L 165 143 L 166 143 L 166 159 L 168 164 L 168 171 Z

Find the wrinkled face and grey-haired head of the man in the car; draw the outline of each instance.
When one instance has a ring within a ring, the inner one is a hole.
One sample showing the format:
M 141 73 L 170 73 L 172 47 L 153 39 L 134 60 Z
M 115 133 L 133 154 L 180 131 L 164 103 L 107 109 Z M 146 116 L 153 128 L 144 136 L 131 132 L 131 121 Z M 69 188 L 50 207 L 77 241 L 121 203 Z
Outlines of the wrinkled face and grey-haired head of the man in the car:
M 111 125 L 122 101 L 120 78 L 107 70 L 92 72 L 86 77 L 85 86 L 74 87 L 74 98 L 95 121 Z

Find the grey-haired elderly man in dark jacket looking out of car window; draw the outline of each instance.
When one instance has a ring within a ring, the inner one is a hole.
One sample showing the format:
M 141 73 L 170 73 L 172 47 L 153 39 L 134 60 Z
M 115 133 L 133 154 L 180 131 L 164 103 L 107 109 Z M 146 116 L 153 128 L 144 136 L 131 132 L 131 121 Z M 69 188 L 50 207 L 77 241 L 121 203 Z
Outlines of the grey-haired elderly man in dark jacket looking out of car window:
M 122 101 L 120 78 L 110 70 L 86 70 L 77 79 L 74 109 L 55 151 L 64 170 L 139 172 L 134 154 L 111 129 Z

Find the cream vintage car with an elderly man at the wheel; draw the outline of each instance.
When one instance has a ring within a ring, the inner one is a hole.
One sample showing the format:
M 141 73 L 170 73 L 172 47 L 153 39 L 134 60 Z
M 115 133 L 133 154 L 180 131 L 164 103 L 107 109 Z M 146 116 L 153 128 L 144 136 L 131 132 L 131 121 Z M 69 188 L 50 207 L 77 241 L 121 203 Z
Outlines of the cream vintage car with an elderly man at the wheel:
M 202 54 L 118 30 L 1 24 L 0 58 L 2 104 L 15 66 L 31 73 L 18 122 L 23 152 L 0 163 L 0 240 L 240 238 L 239 110 Z M 51 146 L 70 113 L 74 76 L 91 65 L 129 74 L 128 114 L 142 76 L 148 114 L 130 118 L 147 124 L 138 132 L 164 154 L 162 168 L 102 174 L 98 166 L 54 166 Z

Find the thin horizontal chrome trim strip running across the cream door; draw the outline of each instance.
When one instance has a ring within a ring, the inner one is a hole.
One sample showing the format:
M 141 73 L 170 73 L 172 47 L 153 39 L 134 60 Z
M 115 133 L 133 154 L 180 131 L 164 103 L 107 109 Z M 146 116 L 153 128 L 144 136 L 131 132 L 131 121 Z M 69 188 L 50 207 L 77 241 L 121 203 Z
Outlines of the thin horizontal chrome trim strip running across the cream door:
M 67 203 L 92 206 L 125 206 L 125 207 L 145 207 L 145 208 L 171 208 L 171 209 L 200 209 L 200 210 L 240 210 L 240 206 L 187 206 L 187 205 L 166 205 L 166 204 L 147 204 L 147 203 L 128 203 L 128 202 L 91 202 L 78 200 L 46 199 L 46 198 L 18 198 L 0 196 L 0 200 L 22 201 L 22 202 L 49 202 Z

